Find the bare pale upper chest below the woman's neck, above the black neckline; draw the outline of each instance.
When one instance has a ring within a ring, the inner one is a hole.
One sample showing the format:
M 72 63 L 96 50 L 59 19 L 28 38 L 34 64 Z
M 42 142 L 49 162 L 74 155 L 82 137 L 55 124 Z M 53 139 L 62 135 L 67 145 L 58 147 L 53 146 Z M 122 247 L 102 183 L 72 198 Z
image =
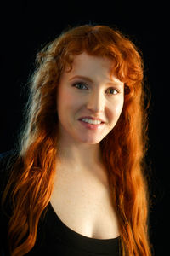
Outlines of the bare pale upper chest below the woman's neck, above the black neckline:
M 119 235 L 107 177 L 93 172 L 58 173 L 51 205 L 71 230 L 83 236 L 107 239 Z

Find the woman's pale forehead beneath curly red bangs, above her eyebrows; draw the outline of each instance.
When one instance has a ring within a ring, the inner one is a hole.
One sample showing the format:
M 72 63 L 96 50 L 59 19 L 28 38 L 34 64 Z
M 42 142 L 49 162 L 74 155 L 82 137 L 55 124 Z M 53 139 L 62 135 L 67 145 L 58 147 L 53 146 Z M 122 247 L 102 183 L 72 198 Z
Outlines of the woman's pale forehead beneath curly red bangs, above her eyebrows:
M 95 79 L 110 79 L 122 83 L 113 73 L 114 61 L 106 57 L 88 55 L 83 52 L 73 56 L 71 70 L 65 69 L 66 76 L 81 75 Z

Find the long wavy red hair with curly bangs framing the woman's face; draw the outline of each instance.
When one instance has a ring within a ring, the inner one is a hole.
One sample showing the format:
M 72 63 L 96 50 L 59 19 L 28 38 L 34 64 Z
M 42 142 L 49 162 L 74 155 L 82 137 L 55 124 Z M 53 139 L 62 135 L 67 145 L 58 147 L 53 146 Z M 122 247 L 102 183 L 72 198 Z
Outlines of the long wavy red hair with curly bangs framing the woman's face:
M 114 61 L 113 72 L 125 84 L 122 114 L 100 142 L 100 148 L 120 225 L 122 254 L 151 255 L 144 167 L 148 137 L 143 61 L 139 50 L 121 32 L 110 26 L 84 25 L 63 32 L 37 54 L 20 150 L 3 193 L 3 203 L 9 193 L 12 198 L 13 212 L 8 224 L 12 256 L 24 255 L 34 247 L 38 221 L 54 186 L 59 78 L 66 65 L 72 67 L 74 55 L 84 51 Z

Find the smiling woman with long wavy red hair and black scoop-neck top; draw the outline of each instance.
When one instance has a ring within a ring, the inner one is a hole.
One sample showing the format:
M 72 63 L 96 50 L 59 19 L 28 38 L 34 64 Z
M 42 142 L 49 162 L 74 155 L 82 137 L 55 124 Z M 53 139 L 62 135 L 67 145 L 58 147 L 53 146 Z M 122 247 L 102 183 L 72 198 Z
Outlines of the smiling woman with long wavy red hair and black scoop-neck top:
M 26 108 L 2 201 L 10 254 L 150 255 L 133 43 L 109 26 L 63 32 L 37 55 Z

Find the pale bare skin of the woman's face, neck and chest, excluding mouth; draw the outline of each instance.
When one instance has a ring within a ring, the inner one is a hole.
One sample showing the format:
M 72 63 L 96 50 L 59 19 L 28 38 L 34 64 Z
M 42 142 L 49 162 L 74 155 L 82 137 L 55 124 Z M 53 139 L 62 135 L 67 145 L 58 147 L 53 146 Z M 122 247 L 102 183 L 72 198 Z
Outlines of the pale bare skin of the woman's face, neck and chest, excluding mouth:
M 124 84 L 111 75 L 113 63 L 87 53 L 74 57 L 73 68 L 60 78 L 59 165 L 51 204 L 61 221 L 82 236 L 111 239 L 120 235 L 99 142 L 114 129 L 124 102 Z M 79 121 L 105 121 L 89 130 Z

